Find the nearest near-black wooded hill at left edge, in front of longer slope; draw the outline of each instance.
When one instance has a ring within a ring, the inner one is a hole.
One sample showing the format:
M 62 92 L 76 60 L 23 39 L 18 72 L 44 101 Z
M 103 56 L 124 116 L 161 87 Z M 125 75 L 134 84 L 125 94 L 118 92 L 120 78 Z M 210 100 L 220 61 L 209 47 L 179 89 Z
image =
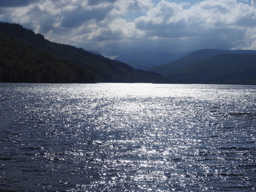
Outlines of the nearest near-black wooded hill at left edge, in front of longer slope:
M 0 31 L 0 82 L 95 83 L 92 71 Z

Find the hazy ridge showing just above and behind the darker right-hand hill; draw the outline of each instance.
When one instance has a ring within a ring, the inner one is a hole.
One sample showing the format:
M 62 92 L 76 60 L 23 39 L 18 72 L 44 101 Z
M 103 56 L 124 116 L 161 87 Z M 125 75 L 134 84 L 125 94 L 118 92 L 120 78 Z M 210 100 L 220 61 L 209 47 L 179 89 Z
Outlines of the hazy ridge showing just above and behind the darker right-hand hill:
M 254 50 L 220 50 L 220 49 L 201 49 L 197 50 L 195 52 L 191 52 L 188 55 L 172 61 L 170 63 L 166 63 L 164 65 L 160 65 L 154 68 L 148 69 L 148 71 L 161 73 L 163 76 L 170 76 L 173 73 L 177 72 L 178 70 L 181 70 L 194 62 L 206 59 L 208 57 L 214 56 L 214 55 L 220 55 L 220 54 L 252 54 L 256 53 Z

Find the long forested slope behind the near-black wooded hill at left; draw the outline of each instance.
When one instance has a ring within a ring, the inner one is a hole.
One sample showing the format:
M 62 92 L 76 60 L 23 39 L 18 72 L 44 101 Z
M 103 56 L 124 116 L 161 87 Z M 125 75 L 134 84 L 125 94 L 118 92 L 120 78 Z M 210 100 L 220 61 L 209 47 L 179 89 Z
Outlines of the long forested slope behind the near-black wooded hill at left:
M 77 64 L 83 70 L 91 71 L 96 82 L 166 82 L 160 74 L 133 69 L 123 62 L 111 60 L 72 45 L 50 42 L 44 39 L 43 35 L 35 34 L 32 30 L 25 29 L 19 24 L 0 23 L 0 31 L 21 41 L 21 44 L 28 44 L 33 49 L 38 49 L 60 60 Z M 15 52 L 15 47 L 13 47 L 13 50 Z

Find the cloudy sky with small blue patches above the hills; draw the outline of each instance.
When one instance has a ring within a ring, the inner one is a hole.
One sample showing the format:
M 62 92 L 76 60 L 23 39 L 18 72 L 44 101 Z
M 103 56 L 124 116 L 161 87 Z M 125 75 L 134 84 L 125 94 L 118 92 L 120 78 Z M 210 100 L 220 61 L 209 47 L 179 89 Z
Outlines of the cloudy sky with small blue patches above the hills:
M 109 58 L 256 50 L 256 0 L 0 0 L 0 21 Z

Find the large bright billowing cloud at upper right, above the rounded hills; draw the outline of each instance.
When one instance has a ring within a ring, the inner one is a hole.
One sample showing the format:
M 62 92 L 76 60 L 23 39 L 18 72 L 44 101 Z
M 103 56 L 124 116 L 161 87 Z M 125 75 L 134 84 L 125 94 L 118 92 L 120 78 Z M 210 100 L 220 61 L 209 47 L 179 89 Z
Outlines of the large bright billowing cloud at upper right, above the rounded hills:
M 234 47 L 250 33 L 248 28 L 256 27 L 255 9 L 248 4 L 238 4 L 236 0 L 206 0 L 189 9 L 183 4 L 162 0 L 134 22 L 148 38 L 194 39 L 193 44 L 204 39 L 208 45 L 214 38 L 213 44 L 226 42 Z

